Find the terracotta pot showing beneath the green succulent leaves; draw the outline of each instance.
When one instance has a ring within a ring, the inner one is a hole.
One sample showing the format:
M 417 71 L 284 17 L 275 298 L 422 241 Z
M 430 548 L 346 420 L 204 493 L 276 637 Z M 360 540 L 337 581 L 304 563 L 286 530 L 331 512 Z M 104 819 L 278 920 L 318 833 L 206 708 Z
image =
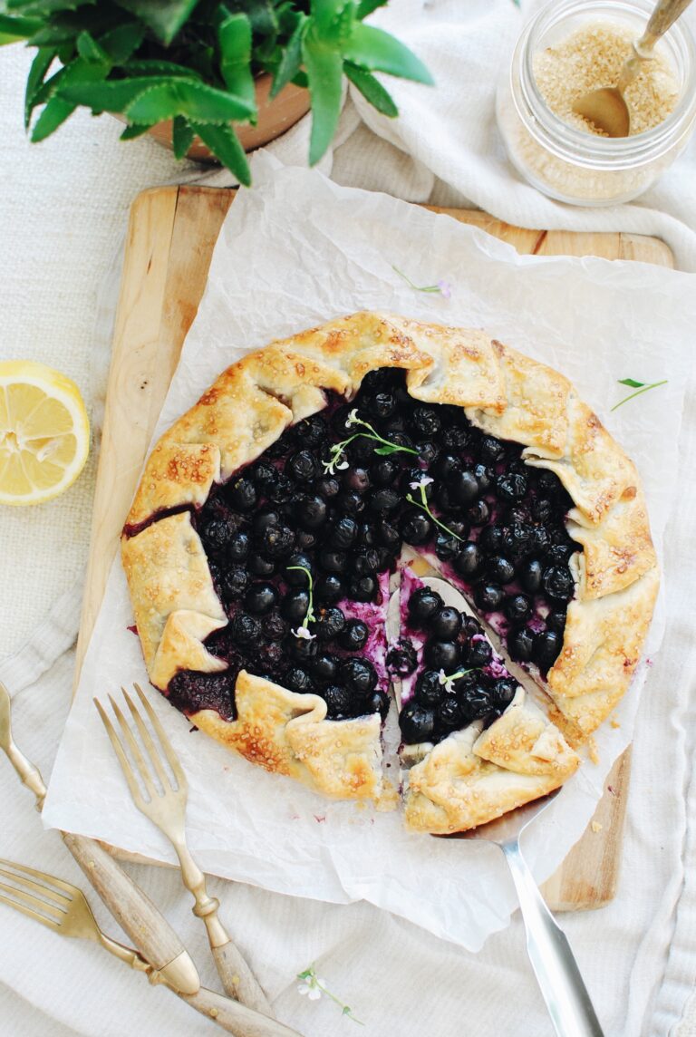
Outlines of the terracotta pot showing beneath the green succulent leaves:
M 255 147 L 262 147 L 269 141 L 275 140 L 281 134 L 299 122 L 303 115 L 309 111 L 309 90 L 304 87 L 295 86 L 288 83 L 283 87 L 277 97 L 270 100 L 271 84 L 273 80 L 268 74 L 263 74 L 256 79 L 256 104 L 258 106 L 258 122 L 255 127 L 234 123 L 236 135 L 242 142 L 245 151 L 252 151 Z M 117 116 L 121 121 L 126 121 L 121 116 Z M 171 149 L 171 120 L 158 122 L 148 131 L 158 144 L 163 144 Z M 188 157 L 196 159 L 197 162 L 217 162 L 211 155 L 200 138 L 195 137 L 193 144 L 189 148 Z

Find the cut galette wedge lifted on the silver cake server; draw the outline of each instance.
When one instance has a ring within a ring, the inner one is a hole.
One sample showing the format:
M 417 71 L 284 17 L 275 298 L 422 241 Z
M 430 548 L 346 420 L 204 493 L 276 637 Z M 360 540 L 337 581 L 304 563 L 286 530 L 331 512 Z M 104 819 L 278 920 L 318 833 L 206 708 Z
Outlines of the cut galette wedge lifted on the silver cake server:
M 407 826 L 440 835 L 475 828 L 562 785 L 579 756 L 462 595 L 407 567 L 399 606 L 387 661 L 396 671 Z

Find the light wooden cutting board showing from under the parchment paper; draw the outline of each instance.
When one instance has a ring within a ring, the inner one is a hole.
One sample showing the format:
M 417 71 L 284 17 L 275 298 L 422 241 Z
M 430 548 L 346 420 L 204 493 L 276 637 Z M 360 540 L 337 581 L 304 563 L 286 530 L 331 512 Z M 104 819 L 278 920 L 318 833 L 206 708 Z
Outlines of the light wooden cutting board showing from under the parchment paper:
M 77 675 L 102 604 L 118 537 L 182 345 L 200 302 L 213 247 L 233 191 L 145 191 L 131 208 L 100 456 Z M 484 213 L 436 209 L 533 255 L 595 255 L 673 267 L 653 237 L 524 230 Z M 77 678 L 76 678 L 77 680 Z M 591 824 L 544 887 L 556 910 L 601 907 L 614 896 L 621 857 L 630 750 L 617 760 Z

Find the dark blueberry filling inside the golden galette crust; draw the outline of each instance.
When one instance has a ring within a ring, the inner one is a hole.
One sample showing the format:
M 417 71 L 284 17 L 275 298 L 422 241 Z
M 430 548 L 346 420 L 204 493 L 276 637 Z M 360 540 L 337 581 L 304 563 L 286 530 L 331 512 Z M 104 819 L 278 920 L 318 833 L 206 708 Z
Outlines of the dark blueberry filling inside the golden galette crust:
M 172 703 L 231 720 L 245 669 L 321 696 L 330 719 L 386 716 L 390 672 L 417 665 L 408 635 L 387 658 L 389 578 L 405 546 L 437 559 L 510 656 L 545 675 L 575 592 L 568 561 L 581 550 L 560 480 L 461 408 L 413 399 L 401 370 L 370 372 L 350 403 L 326 395 L 324 411 L 216 485 L 193 515 L 229 619 L 205 644 L 228 669 L 177 673 Z M 483 658 L 491 645 L 476 620 L 454 613 L 426 588 L 411 597 L 425 669 L 401 710 L 407 742 L 423 740 L 430 717 L 437 741 L 511 700 L 514 681 Z M 430 676 L 464 670 L 452 692 Z

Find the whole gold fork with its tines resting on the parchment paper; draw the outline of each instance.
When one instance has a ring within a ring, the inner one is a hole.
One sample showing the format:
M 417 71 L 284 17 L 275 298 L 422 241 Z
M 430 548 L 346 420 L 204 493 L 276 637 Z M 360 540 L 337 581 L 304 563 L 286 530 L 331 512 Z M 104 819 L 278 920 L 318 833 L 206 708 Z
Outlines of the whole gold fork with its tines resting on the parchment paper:
M 146 712 L 147 718 L 149 719 L 149 722 L 158 736 L 164 756 L 174 776 L 175 785 L 172 783 L 170 776 L 167 774 L 162 759 L 162 754 L 155 745 L 155 740 L 147 729 L 142 714 L 126 689 L 121 688 L 126 704 L 128 705 L 133 721 L 135 722 L 135 726 L 140 734 L 143 746 L 145 747 L 151 766 L 148 766 L 145 762 L 133 730 L 113 697 L 109 695 L 109 702 L 111 703 L 111 708 L 113 709 L 118 726 L 120 727 L 122 738 L 119 737 L 111 719 L 107 716 L 102 703 L 99 702 L 98 699 L 94 699 L 94 705 L 99 709 L 104 726 L 106 727 L 109 738 L 111 739 L 111 745 L 113 746 L 114 752 L 118 757 L 118 761 L 131 790 L 133 802 L 138 810 L 140 810 L 145 817 L 149 818 L 149 820 L 159 828 L 167 839 L 169 839 L 172 846 L 176 850 L 176 856 L 178 857 L 182 868 L 184 885 L 193 894 L 196 901 L 193 907 L 193 913 L 198 918 L 202 918 L 205 923 L 207 938 L 213 952 L 213 957 L 215 958 L 215 964 L 225 990 L 230 994 L 230 997 L 241 1001 L 249 1008 L 253 1008 L 257 1012 L 262 1012 L 265 1015 L 272 1016 L 271 1005 L 259 986 L 258 981 L 218 918 L 218 907 L 220 906 L 219 900 L 215 897 L 208 896 L 205 888 L 205 876 L 189 852 L 186 842 L 186 804 L 189 786 L 186 775 L 184 774 L 184 768 L 182 767 L 169 739 L 164 733 L 164 729 L 160 724 L 155 710 L 145 698 L 142 689 L 139 684 L 135 684 L 135 690 L 138 698 L 140 699 L 142 708 Z M 131 755 L 135 761 L 135 767 L 137 768 L 140 781 L 144 787 L 145 794 L 143 794 L 143 790 L 139 784 L 138 778 L 136 777 L 136 769 L 134 769 L 131 761 L 129 760 L 126 752 L 126 746 L 128 746 L 131 751 Z M 159 779 L 159 787 L 155 780 L 156 776 Z

